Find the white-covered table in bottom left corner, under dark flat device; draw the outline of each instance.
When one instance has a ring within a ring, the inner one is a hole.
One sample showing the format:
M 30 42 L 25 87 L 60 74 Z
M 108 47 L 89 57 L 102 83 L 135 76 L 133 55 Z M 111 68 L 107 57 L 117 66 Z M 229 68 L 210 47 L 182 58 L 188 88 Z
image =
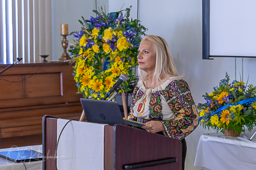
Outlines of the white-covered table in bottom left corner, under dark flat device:
M 17 147 L 13 146 L 12 148 L 4 148 L 0 149 L 0 152 L 6 152 L 10 150 L 35 150 L 37 152 L 42 153 L 42 145 L 35 145 L 35 146 L 23 146 Z M 25 162 L 24 163 L 28 170 L 42 170 L 42 160 L 35 161 L 35 162 Z M 25 170 L 24 164 L 22 163 L 15 163 L 10 160 L 6 160 L 0 157 L 0 169 L 1 170 Z

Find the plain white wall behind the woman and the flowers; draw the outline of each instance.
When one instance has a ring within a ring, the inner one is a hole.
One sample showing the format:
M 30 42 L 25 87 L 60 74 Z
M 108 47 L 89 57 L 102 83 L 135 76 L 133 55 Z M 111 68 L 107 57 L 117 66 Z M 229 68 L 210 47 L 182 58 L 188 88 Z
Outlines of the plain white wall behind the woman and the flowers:
M 180 74 L 188 81 L 196 104 L 204 103 L 202 97 L 205 92 L 211 92 L 212 87 L 218 85 L 225 78 L 225 72 L 230 74 L 230 80 L 237 80 L 239 74 L 244 81 L 250 73 L 249 83 L 256 85 L 256 59 L 214 59 L 202 60 L 202 1 L 200 0 L 140 0 L 140 20 L 148 28 L 147 34 L 162 36 L 168 41 L 173 59 Z M 125 3 L 125 4 L 124 4 Z M 137 0 L 102 0 L 98 6 L 106 5 L 109 12 L 118 11 L 132 5 L 131 17 L 136 18 Z M 52 0 L 52 52 L 53 59 L 59 59 L 63 49 L 61 47 L 60 24 L 69 24 L 69 31 L 78 31 L 80 24 L 77 22 L 81 15 L 90 18 L 95 9 L 95 1 L 63 1 Z M 108 10 L 107 10 L 108 11 Z M 68 38 L 70 41 L 72 37 Z M 243 74 L 242 74 L 243 73 Z M 193 166 L 196 146 L 201 134 L 209 132 L 198 126 L 195 132 L 186 140 L 188 153 L 186 169 L 197 169 Z M 213 131 L 210 131 L 213 132 Z

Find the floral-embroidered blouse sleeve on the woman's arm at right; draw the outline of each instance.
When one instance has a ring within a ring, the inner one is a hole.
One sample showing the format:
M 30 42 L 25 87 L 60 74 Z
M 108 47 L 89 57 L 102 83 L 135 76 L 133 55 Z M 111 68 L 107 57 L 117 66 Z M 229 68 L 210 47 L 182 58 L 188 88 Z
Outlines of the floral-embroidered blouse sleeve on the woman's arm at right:
M 188 83 L 173 80 L 161 94 L 175 115 L 172 120 L 162 121 L 165 136 L 184 139 L 198 125 L 198 113 Z

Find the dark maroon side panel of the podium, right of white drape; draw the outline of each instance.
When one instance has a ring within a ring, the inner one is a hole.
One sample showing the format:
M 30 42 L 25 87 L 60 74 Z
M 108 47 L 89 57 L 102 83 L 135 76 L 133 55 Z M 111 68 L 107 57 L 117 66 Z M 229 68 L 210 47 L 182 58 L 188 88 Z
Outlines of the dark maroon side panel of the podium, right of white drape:
M 114 169 L 125 165 L 143 164 L 161 160 L 177 159 L 177 162 L 136 168 L 138 170 L 182 169 L 182 143 L 124 125 L 114 126 Z

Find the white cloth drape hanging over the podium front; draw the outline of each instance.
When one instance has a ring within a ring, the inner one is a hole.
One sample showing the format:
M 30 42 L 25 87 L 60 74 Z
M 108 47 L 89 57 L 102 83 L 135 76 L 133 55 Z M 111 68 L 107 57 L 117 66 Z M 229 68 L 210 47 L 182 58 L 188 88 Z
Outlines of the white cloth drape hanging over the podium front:
M 58 119 L 57 140 L 65 119 Z M 63 130 L 57 151 L 58 169 L 104 169 L 104 126 L 72 121 Z

